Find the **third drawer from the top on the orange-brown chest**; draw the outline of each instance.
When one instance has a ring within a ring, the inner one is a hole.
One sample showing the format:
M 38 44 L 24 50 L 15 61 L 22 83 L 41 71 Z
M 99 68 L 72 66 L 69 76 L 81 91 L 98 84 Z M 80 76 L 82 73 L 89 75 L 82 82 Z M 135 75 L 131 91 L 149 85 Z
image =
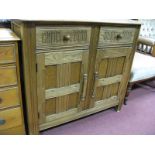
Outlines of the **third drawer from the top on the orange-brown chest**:
M 19 105 L 18 88 L 0 89 L 0 109 Z

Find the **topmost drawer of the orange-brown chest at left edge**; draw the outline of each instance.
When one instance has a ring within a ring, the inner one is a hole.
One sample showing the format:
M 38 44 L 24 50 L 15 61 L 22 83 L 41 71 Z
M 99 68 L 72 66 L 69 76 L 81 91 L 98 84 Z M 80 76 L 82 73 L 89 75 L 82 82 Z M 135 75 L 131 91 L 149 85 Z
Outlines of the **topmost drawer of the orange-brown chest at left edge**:
M 15 62 L 15 45 L 0 45 L 0 64 Z

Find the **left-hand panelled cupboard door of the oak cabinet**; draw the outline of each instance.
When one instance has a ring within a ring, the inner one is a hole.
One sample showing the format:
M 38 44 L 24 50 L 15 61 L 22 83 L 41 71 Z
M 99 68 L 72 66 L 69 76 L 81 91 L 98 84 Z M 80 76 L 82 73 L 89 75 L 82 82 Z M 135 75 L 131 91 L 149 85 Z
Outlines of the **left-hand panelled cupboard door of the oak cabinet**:
M 88 50 L 37 54 L 40 124 L 78 112 L 85 101 L 88 55 Z

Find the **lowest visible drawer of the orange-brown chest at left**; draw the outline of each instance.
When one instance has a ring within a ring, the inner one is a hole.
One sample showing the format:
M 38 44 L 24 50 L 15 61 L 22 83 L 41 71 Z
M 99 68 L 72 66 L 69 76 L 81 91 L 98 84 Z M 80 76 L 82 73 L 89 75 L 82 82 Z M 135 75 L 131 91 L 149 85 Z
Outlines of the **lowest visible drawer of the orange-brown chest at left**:
M 22 125 L 20 107 L 0 111 L 0 134 L 1 130 L 6 130 L 20 125 Z

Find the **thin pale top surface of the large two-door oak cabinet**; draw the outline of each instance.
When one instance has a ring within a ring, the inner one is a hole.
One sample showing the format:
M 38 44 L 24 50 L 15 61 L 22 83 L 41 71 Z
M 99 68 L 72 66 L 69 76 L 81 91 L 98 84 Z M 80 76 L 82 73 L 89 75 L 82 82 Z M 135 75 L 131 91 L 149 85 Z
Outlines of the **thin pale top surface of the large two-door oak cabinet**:
M 85 24 L 128 24 L 128 25 L 141 25 L 139 21 L 136 20 L 85 20 L 85 19 L 17 19 L 20 22 L 34 22 L 34 23 L 85 23 Z

